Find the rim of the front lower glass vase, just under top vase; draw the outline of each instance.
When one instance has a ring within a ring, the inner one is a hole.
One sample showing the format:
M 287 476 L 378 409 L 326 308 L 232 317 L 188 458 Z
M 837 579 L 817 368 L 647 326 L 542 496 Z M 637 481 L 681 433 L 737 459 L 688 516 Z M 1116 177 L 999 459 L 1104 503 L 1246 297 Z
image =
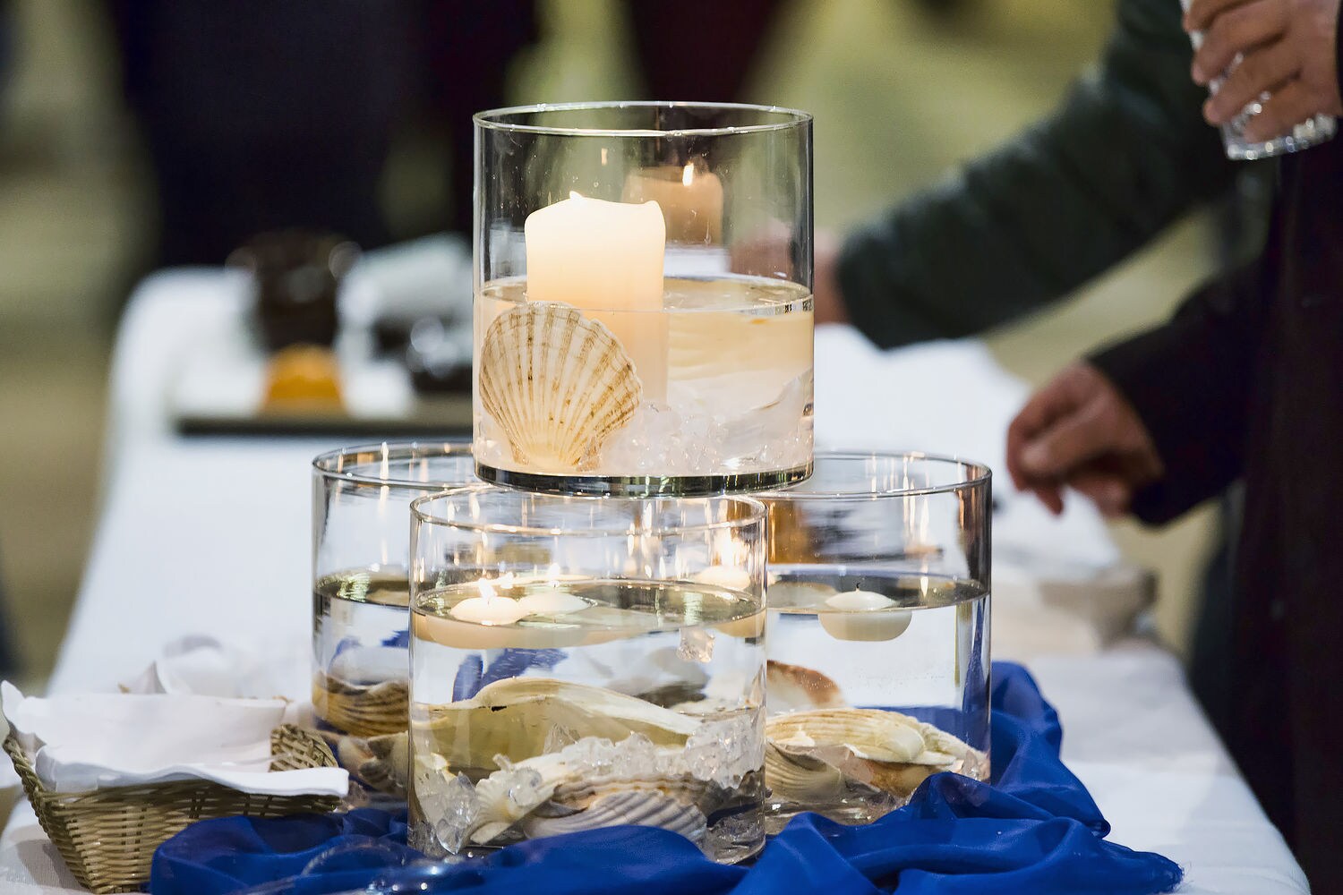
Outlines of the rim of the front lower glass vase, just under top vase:
M 638 529 L 637 531 L 630 530 L 629 518 L 623 519 L 620 525 L 611 525 L 610 527 L 590 527 L 590 529 L 556 529 L 556 527 L 541 527 L 529 525 L 508 525 L 502 522 L 473 522 L 470 519 L 447 519 L 441 515 L 435 515 L 432 511 L 424 507 L 434 501 L 442 501 L 445 498 L 467 496 L 470 494 L 501 494 L 514 498 L 530 498 L 536 501 L 547 502 L 563 502 L 572 506 L 627 506 L 633 509 L 645 507 L 649 505 L 686 505 L 686 503 L 710 503 L 710 502 L 724 502 L 724 503 L 739 503 L 745 507 L 747 514 L 735 519 L 724 519 L 719 522 L 692 522 L 692 523 L 674 523 L 674 525 L 655 525 L 647 529 Z M 441 525 L 453 529 L 461 529 L 465 531 L 481 531 L 486 534 L 512 534 L 518 537 L 572 537 L 572 538 L 614 538 L 614 537 L 630 537 L 631 534 L 638 534 L 641 537 L 657 537 L 673 533 L 689 533 L 689 531 L 731 531 L 737 529 L 744 529 L 751 525 L 759 525 L 764 527 L 766 521 L 766 506 L 759 499 L 753 496 L 747 496 L 744 494 L 712 494 L 705 496 L 694 498 L 677 498 L 677 496 L 650 496 L 650 498 L 620 498 L 611 495 L 594 495 L 594 494 L 549 494 L 544 491 L 522 491 L 517 488 L 501 488 L 485 482 L 478 482 L 475 484 L 462 484 L 458 487 L 446 488 L 435 494 L 426 494 L 423 496 L 411 501 L 411 515 L 415 518 L 418 525 Z

